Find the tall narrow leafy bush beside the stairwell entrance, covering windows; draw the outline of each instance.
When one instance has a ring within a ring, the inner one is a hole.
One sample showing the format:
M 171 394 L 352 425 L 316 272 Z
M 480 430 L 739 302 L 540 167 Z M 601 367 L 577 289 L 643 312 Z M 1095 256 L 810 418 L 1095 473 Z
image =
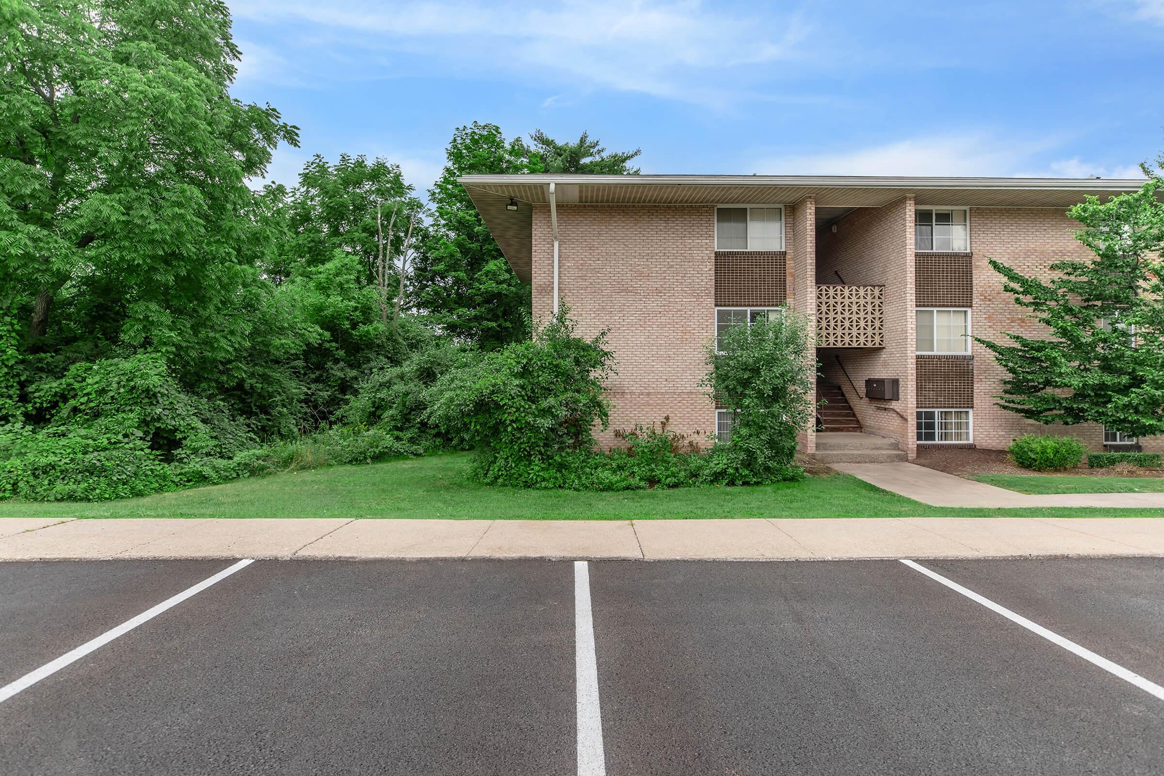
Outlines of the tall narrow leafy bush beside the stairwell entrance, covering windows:
M 816 377 L 808 320 L 787 309 L 732 327 L 707 349 L 703 385 L 734 412 L 726 440 L 708 453 L 702 478 L 723 485 L 800 479 L 796 435 L 812 421 Z

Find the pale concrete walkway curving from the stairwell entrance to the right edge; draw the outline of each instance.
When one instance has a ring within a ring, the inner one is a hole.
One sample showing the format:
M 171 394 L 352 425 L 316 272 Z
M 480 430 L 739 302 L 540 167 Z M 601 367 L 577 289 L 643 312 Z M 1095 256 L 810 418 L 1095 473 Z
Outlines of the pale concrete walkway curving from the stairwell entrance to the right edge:
M 916 463 L 832 463 L 837 471 L 932 506 L 1100 506 L 1164 508 L 1164 493 L 1057 493 L 1032 496 L 947 475 Z

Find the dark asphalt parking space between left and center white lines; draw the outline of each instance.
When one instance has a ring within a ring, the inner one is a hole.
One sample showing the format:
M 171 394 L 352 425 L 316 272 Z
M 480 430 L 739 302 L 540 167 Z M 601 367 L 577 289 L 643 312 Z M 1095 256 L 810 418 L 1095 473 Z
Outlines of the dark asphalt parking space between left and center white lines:
M 570 564 L 260 562 L 2 704 L 0 773 L 565 774 L 574 739 Z

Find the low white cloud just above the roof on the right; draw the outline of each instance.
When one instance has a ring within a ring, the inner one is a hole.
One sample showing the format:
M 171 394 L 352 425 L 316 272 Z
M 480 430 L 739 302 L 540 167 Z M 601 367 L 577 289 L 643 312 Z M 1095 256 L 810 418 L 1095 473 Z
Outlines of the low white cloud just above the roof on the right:
M 931 135 L 882 145 L 761 159 L 768 175 L 967 176 L 1023 178 L 1142 178 L 1135 164 L 1102 165 L 1079 157 L 1038 163 L 1057 141 L 999 137 L 989 133 Z

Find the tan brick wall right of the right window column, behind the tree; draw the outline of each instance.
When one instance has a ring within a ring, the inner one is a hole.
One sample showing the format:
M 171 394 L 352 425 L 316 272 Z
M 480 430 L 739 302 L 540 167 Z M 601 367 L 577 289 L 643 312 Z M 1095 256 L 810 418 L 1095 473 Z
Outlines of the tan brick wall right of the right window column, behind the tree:
M 1024 275 L 1050 278 L 1050 266 L 1055 262 L 1065 258 L 1087 261 L 1093 256 L 1071 234 L 1071 229 L 1079 228 L 1079 223 L 1057 208 L 975 207 L 971 208 L 970 221 L 970 241 L 974 251 L 973 334 L 996 342 L 1006 340 L 1002 332 L 1045 336 L 1046 328 L 1028 319 L 1027 309 L 1014 304 L 1013 296 L 1002 290 L 1001 278 L 987 259 L 1000 261 Z M 1002 391 L 1006 372 L 978 342 L 972 344 L 972 350 L 977 378 L 975 446 L 1002 449 L 1023 434 L 1060 434 L 1077 436 L 1094 450 L 1103 449 L 1103 427 L 1098 423 L 1044 426 L 996 407 L 998 399 L 994 397 Z M 1144 439 L 1141 443 L 1145 450 L 1164 450 L 1162 437 Z

